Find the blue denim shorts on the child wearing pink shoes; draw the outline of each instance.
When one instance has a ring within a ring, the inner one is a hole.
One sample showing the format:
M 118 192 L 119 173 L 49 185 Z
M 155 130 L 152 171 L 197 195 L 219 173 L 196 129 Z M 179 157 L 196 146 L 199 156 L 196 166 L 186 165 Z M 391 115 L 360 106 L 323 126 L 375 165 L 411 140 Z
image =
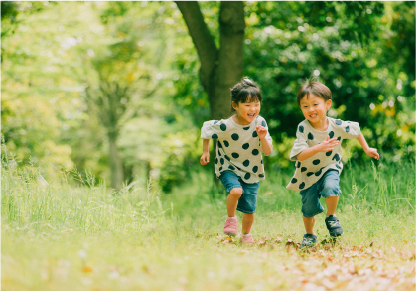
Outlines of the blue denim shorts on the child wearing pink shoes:
M 238 199 L 237 210 L 247 214 L 253 214 L 256 211 L 257 191 L 259 183 L 247 184 L 232 171 L 221 172 L 218 177 L 224 185 L 227 193 L 234 188 L 242 188 L 243 195 Z

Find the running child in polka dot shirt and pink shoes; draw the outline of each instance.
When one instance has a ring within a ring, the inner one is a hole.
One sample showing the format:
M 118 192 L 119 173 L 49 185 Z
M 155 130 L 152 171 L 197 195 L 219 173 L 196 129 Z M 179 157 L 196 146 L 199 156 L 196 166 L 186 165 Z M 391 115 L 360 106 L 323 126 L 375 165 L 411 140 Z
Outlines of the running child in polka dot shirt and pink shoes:
M 240 242 L 252 244 L 250 229 L 256 210 L 259 181 L 264 180 L 261 152 L 272 152 L 272 138 L 267 123 L 259 114 L 260 89 L 253 81 L 243 78 L 231 89 L 231 106 L 235 114 L 228 119 L 210 120 L 201 130 L 203 154 L 201 164 L 209 163 L 209 141 L 217 139 L 215 174 L 225 186 L 228 217 L 224 233 L 237 235 L 238 220 L 235 211 L 243 213 Z

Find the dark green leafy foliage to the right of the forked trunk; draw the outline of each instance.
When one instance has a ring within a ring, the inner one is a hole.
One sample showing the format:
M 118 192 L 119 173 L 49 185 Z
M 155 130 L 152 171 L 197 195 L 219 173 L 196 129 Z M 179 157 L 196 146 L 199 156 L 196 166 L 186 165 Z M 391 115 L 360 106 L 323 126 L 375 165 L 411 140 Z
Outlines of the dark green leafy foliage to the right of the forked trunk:
M 297 88 L 319 76 L 333 93 L 330 116 L 358 121 L 386 158 L 414 159 L 413 4 L 253 2 L 246 13 L 245 74 L 262 86 L 277 143 L 304 119 Z

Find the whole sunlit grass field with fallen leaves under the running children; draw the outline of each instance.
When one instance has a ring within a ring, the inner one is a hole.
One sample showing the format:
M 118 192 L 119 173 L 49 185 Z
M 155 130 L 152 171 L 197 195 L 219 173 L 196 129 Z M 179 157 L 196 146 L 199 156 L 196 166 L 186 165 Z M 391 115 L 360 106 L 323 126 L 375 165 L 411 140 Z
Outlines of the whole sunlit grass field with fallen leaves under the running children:
M 331 242 L 299 250 L 299 194 L 288 173 L 261 183 L 254 246 L 221 234 L 223 190 L 195 173 L 159 195 L 131 184 L 74 186 L 2 167 L 3 290 L 414 290 L 414 163 L 347 166 Z M 214 193 L 214 192 L 218 193 Z M 241 226 L 241 224 L 240 224 Z

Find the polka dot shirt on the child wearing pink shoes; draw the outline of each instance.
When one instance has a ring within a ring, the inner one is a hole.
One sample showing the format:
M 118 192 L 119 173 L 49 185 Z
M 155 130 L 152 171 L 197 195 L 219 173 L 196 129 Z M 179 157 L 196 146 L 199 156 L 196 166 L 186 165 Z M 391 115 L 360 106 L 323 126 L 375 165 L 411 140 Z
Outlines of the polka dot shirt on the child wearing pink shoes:
M 215 174 L 230 170 L 245 183 L 257 183 L 264 180 L 264 167 L 261 155 L 260 138 L 257 136 L 256 126 L 267 128 L 266 120 L 257 116 L 247 125 L 234 122 L 232 117 L 221 120 L 204 122 L 201 138 L 216 138 L 215 145 Z M 267 132 L 266 140 L 272 145 L 272 138 Z

